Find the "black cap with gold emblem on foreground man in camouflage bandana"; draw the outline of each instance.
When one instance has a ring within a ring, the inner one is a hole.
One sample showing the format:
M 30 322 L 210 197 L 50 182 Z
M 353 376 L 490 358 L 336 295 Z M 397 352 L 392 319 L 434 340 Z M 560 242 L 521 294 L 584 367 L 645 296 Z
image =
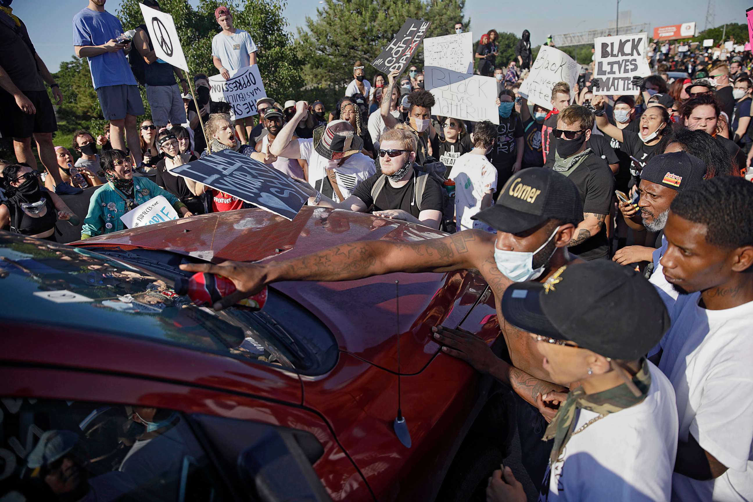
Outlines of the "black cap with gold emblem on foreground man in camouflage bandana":
M 654 285 L 611 260 L 568 265 L 544 284 L 514 282 L 501 307 L 505 321 L 520 330 L 626 361 L 647 354 L 669 329 Z

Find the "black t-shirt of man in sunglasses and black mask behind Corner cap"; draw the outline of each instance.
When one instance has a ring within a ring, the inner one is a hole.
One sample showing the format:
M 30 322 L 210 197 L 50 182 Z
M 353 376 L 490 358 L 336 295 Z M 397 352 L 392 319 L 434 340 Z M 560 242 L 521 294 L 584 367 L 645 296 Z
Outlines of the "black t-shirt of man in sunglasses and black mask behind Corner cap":
M 591 154 L 580 166 L 568 176 L 581 193 L 584 213 L 609 214 L 612 194 L 614 193 L 614 177 L 607 165 L 607 161 Z M 572 254 L 582 260 L 596 260 L 607 256 L 609 242 L 606 227 L 602 225 L 595 236 L 585 242 L 569 248 Z

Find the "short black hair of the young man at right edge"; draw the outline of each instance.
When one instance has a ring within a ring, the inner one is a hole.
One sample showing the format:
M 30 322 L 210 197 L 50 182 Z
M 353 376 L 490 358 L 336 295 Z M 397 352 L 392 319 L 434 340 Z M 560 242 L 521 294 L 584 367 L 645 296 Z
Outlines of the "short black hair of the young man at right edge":
M 717 176 L 683 190 L 669 206 L 672 213 L 706 225 L 706 242 L 735 249 L 753 245 L 753 183 Z

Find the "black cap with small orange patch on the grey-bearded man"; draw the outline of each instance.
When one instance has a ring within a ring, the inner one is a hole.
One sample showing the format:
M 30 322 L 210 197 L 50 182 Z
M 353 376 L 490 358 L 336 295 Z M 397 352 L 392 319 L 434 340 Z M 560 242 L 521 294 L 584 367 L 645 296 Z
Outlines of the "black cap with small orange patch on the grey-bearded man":
M 641 171 L 641 179 L 681 192 L 701 184 L 706 164 L 684 151 L 654 155 Z

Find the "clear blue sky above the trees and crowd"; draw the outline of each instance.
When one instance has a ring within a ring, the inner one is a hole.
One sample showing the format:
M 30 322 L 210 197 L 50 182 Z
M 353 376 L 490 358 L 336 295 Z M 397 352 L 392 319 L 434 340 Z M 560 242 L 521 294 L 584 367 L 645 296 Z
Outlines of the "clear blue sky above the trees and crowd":
M 197 5 L 198 0 L 191 0 L 191 3 Z M 745 23 L 745 9 L 751 7 L 753 0 L 716 0 L 715 3 L 715 24 L 721 25 Z M 87 0 L 14 0 L 14 14 L 26 23 L 32 42 L 50 71 L 57 71 L 60 62 L 71 59 L 72 18 L 86 5 Z M 108 0 L 105 8 L 114 13 L 118 5 L 120 0 Z M 489 11 L 492 5 L 495 8 Z M 531 8 L 532 5 L 535 9 Z M 598 4 L 590 0 L 538 0 L 533 3 L 467 0 L 465 14 L 471 17 L 473 32 L 494 28 L 500 32 L 519 33 L 529 29 L 532 43 L 536 45 L 544 42 L 549 33 L 556 35 L 605 28 L 609 21 L 614 20 L 616 5 L 615 0 Z M 651 23 L 652 28 L 696 21 L 702 30 L 707 5 L 708 0 L 621 0 L 620 11 L 631 11 L 633 23 Z M 288 0 L 285 15 L 291 32 L 296 32 L 296 26 L 305 25 L 306 16 L 316 17 L 317 7 L 318 0 Z

